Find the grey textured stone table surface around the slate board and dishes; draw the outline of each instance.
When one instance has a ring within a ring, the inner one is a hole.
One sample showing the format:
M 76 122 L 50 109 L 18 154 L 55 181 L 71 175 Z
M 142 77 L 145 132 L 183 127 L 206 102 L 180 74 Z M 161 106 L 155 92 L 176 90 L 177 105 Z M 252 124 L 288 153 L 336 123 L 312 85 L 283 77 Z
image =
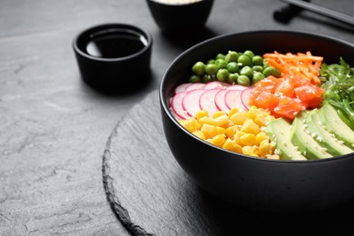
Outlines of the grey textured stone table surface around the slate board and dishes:
M 351 0 L 313 2 L 354 12 Z M 211 36 L 249 30 L 290 29 L 354 43 L 352 27 L 307 11 L 287 25 L 274 21 L 283 5 L 215 0 L 208 34 L 181 41 L 160 32 L 143 0 L 0 0 L 0 235 L 130 235 L 107 201 L 103 152 L 116 124 L 156 91 L 178 54 Z M 142 90 L 105 93 L 82 82 L 72 41 L 103 23 L 152 34 L 152 80 Z

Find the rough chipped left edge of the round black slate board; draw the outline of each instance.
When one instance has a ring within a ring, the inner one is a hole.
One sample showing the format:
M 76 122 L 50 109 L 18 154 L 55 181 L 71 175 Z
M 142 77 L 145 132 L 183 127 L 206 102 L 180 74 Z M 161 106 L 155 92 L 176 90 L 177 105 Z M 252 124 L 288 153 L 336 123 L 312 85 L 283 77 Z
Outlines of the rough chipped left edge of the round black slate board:
M 123 119 L 124 119 L 124 117 L 123 117 Z M 145 231 L 141 226 L 135 224 L 131 220 L 131 218 L 129 216 L 129 212 L 123 207 L 123 205 L 119 201 L 118 197 L 116 197 L 116 194 L 115 194 L 115 191 L 113 188 L 113 178 L 111 176 L 111 169 L 110 169 L 110 165 L 109 165 L 109 162 L 111 161 L 110 146 L 111 146 L 113 137 L 117 134 L 117 130 L 118 130 L 120 123 L 121 122 L 118 122 L 116 124 L 116 126 L 114 127 L 113 132 L 109 136 L 108 141 L 105 146 L 105 149 L 104 149 L 104 152 L 103 152 L 102 172 L 103 172 L 104 192 L 106 193 L 107 201 L 110 203 L 114 214 L 116 215 L 118 220 L 123 223 L 123 226 L 130 233 L 132 233 L 133 235 L 137 235 L 137 236 L 153 236 L 155 234 Z

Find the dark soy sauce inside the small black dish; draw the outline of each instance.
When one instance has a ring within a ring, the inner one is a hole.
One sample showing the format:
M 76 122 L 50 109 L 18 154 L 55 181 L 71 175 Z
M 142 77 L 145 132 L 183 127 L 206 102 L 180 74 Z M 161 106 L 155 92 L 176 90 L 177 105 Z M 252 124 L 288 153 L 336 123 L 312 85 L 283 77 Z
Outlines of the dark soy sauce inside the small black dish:
M 147 45 L 142 34 L 129 30 L 106 30 L 91 35 L 86 45 L 87 54 L 102 58 L 120 58 L 136 54 Z

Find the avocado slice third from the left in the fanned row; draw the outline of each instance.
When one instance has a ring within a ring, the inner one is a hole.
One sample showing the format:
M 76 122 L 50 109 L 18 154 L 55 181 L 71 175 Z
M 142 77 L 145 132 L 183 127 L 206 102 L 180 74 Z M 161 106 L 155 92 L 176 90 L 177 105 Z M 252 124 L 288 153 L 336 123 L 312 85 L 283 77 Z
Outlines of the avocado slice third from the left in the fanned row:
M 354 152 L 354 150 L 344 145 L 342 141 L 339 141 L 332 133 L 327 131 L 323 123 L 320 122 L 319 110 L 310 111 L 306 119 L 306 125 L 312 137 L 322 147 L 327 148 L 327 152 L 330 154 L 337 156 Z

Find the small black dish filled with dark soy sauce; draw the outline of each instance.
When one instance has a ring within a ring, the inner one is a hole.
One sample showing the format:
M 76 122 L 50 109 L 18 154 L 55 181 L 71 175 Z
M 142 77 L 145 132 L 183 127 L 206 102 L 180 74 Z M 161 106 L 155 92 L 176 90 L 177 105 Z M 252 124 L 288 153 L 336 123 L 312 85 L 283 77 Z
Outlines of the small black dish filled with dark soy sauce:
M 87 84 L 128 88 L 150 74 L 152 36 L 136 26 L 93 26 L 74 38 L 73 47 Z

